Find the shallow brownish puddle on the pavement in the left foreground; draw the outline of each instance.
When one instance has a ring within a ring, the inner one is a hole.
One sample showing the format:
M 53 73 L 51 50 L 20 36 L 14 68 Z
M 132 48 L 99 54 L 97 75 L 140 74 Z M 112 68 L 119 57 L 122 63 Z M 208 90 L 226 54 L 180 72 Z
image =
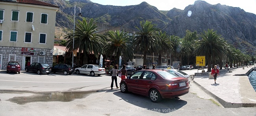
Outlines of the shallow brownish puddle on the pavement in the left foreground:
M 1 92 L 2 93 L 2 92 Z M 69 102 L 74 99 L 82 99 L 89 96 L 93 92 L 52 92 L 52 93 L 33 93 L 32 96 L 19 96 L 7 99 L 20 105 L 24 105 L 30 102 L 50 102 L 50 101 L 62 101 Z

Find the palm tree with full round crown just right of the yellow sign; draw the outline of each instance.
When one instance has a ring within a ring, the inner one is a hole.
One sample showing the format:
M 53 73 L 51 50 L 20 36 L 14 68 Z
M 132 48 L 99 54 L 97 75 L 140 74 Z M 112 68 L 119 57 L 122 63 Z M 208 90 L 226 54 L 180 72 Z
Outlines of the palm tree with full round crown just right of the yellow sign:
M 213 29 L 204 31 L 204 33 L 201 33 L 200 37 L 202 37 L 202 40 L 198 41 L 196 53 L 206 56 L 206 60 L 208 61 L 207 72 L 210 72 L 211 57 L 213 55 L 217 56 L 226 53 L 226 46 L 228 44 L 221 38 L 221 35 L 217 34 L 217 31 L 213 31 Z

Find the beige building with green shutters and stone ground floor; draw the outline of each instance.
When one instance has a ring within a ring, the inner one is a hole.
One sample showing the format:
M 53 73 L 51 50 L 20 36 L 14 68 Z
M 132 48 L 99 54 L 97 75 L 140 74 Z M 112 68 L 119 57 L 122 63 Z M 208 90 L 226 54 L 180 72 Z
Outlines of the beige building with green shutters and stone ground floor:
M 52 65 L 56 11 L 37 0 L 0 0 L 0 67 L 18 61 L 21 70 L 33 63 Z

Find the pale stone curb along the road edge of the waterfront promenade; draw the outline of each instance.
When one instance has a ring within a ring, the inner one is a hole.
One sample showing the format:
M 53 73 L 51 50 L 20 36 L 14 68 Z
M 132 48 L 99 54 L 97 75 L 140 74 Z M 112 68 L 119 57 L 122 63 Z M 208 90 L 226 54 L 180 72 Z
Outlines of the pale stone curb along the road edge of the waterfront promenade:
M 196 85 L 198 85 L 199 88 L 201 88 L 204 92 L 206 92 L 207 94 L 209 94 L 210 96 L 212 96 L 214 99 L 216 99 L 219 103 L 221 103 L 221 105 L 224 108 L 239 108 L 239 107 L 243 107 L 243 103 L 230 103 L 230 102 L 226 102 L 223 99 L 217 97 L 215 94 L 211 93 L 209 90 L 207 90 L 206 88 L 202 87 L 201 85 L 199 85 L 195 79 L 194 79 L 194 83 Z M 247 103 L 250 104 L 250 103 Z M 252 106 L 252 105 L 247 105 L 247 106 Z

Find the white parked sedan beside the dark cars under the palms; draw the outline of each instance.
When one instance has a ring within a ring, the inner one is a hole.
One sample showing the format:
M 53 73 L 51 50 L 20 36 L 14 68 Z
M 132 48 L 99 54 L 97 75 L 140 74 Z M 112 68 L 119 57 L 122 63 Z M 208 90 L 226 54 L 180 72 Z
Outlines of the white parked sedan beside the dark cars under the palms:
M 105 68 L 101 68 L 98 65 L 94 64 L 85 64 L 80 68 L 75 68 L 76 74 L 89 74 L 89 75 L 101 75 L 105 74 Z

